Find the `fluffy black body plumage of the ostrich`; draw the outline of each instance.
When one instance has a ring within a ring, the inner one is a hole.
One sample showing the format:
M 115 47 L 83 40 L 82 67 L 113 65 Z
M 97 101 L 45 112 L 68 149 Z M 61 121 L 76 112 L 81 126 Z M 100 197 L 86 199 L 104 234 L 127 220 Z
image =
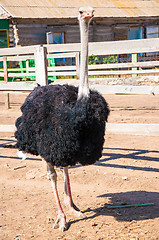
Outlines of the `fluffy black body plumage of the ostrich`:
M 93 164 L 102 154 L 109 108 L 96 91 L 77 100 L 78 88 L 35 88 L 16 121 L 19 150 L 40 155 L 53 166 Z

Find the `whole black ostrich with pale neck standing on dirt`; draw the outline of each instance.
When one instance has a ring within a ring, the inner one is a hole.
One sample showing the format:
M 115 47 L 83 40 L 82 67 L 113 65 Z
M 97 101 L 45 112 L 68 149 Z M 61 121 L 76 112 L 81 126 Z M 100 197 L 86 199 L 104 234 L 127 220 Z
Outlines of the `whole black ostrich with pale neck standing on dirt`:
M 36 87 L 21 106 L 22 116 L 16 120 L 17 147 L 23 153 L 40 155 L 47 162 L 58 215 L 53 228 L 68 229 L 58 191 L 55 167 L 64 169 L 65 202 L 76 216 L 82 212 L 74 204 L 68 166 L 89 165 L 101 157 L 108 104 L 88 85 L 88 27 L 93 8 L 79 9 L 81 67 L 79 88 L 71 85 Z

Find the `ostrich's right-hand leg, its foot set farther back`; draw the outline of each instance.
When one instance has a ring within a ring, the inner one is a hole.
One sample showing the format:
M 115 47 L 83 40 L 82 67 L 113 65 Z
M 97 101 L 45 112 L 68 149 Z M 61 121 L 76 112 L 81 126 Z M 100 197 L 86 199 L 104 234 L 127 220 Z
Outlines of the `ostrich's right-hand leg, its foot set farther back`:
M 69 207 L 71 213 L 77 217 L 84 217 L 84 214 L 79 210 L 79 208 L 73 203 L 70 180 L 68 174 L 68 167 L 64 167 L 64 181 L 65 181 L 65 204 Z

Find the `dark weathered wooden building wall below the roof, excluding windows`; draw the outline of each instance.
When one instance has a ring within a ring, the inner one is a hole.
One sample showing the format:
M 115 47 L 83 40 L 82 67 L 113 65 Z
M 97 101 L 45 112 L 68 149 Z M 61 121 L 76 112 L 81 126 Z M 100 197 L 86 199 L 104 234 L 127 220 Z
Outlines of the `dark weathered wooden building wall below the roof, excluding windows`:
M 89 41 L 102 42 L 129 39 L 130 29 L 142 28 L 142 36 L 146 38 L 147 26 L 159 25 L 158 19 L 101 19 L 92 21 L 89 28 Z M 80 31 L 77 20 L 57 22 L 56 20 L 17 20 L 10 22 L 10 46 L 37 45 L 47 43 L 47 32 L 62 33 L 65 43 L 80 42 Z M 141 35 L 141 31 L 140 31 Z M 63 41 L 62 41 L 63 42 Z

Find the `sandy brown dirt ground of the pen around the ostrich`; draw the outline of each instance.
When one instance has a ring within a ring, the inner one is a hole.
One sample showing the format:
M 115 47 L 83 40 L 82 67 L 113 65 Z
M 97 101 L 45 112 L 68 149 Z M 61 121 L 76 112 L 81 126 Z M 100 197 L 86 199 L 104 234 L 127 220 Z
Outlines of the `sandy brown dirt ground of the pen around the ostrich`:
M 0 96 L 0 125 L 14 124 L 26 94 Z M 159 123 L 159 96 L 108 95 L 109 122 Z M 107 133 L 102 158 L 91 166 L 69 169 L 72 195 L 84 218 L 71 216 L 63 204 L 64 181 L 57 169 L 61 203 L 69 222 L 53 229 L 57 209 L 40 157 L 17 157 L 13 133 L 0 133 L 1 240 L 156 240 L 159 239 L 159 137 Z M 153 203 L 123 207 L 125 204 Z M 120 208 L 110 208 L 120 206 Z

